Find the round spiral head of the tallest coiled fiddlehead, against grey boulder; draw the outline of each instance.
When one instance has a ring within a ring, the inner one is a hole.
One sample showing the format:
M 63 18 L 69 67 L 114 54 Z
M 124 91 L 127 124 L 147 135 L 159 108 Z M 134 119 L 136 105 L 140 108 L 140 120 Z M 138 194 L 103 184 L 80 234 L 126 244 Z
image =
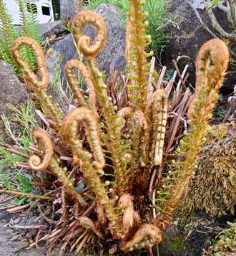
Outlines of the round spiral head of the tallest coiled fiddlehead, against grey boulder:
M 83 34 L 83 27 L 86 24 L 92 24 L 97 29 L 93 44 L 90 44 L 90 38 Z M 93 58 L 96 57 L 104 47 L 107 38 L 107 26 L 102 16 L 94 11 L 84 10 L 79 11 L 79 13 L 74 16 L 72 33 L 74 34 L 74 39 L 80 52 L 82 52 L 85 57 Z

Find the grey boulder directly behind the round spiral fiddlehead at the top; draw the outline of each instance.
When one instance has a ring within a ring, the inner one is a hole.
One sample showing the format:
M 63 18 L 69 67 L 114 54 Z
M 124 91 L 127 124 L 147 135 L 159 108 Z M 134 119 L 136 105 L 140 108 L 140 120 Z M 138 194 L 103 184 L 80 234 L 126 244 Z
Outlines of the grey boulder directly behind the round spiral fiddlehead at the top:
M 95 11 L 101 14 L 107 23 L 107 43 L 97 57 L 99 70 L 109 72 L 110 65 L 122 70 L 125 66 L 125 29 L 120 24 L 121 13 L 117 7 L 109 4 L 101 4 Z M 86 27 L 84 30 L 89 37 L 94 38 L 95 34 L 92 27 Z M 65 81 L 64 65 L 68 60 L 78 57 L 72 34 L 68 34 L 64 39 L 52 44 L 49 49 L 51 49 L 51 53 L 46 57 L 46 66 L 49 74 L 51 77 L 55 75 L 55 69 L 63 56 L 60 68 L 62 70 L 62 78 Z

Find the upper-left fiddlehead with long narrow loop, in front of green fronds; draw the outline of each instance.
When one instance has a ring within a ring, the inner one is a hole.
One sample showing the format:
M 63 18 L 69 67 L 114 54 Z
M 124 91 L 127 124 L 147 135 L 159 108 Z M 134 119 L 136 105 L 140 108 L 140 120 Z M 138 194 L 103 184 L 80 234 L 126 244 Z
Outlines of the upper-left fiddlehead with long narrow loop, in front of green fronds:
M 34 74 L 34 72 L 29 68 L 29 64 L 23 60 L 21 48 L 24 46 L 31 47 L 34 50 L 40 78 Z M 29 37 L 19 37 L 12 44 L 11 51 L 14 57 L 14 61 L 23 70 L 24 76 L 29 83 L 30 89 L 33 90 L 36 96 L 39 98 L 39 101 L 41 105 L 43 105 L 46 109 L 49 118 L 51 118 L 51 120 L 56 123 L 56 125 L 53 125 L 53 128 L 59 132 L 59 128 L 62 125 L 62 120 L 59 116 L 59 113 L 56 111 L 56 105 L 51 103 L 51 96 L 46 95 L 46 87 L 49 83 L 49 75 L 46 70 L 44 52 L 42 51 L 40 45 L 34 39 Z

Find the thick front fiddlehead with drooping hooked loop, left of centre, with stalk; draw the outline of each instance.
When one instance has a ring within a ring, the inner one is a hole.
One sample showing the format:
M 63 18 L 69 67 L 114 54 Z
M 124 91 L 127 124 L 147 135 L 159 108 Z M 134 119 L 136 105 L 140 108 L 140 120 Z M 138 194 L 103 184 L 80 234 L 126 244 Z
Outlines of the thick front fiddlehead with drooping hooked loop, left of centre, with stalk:
M 82 147 L 82 142 L 77 138 L 78 123 L 85 126 L 87 141 L 92 150 L 92 154 Z M 103 207 L 105 214 L 110 222 L 112 234 L 122 237 L 121 219 L 114 210 L 114 199 L 109 199 L 105 184 L 102 184 L 99 176 L 104 174 L 105 164 L 101 141 L 99 138 L 99 128 L 97 120 L 94 118 L 92 110 L 87 107 L 75 108 L 71 110 L 62 125 L 62 135 L 64 141 L 69 143 L 72 148 L 74 162 L 78 163 L 82 169 L 84 179 L 88 186 L 97 196 L 98 204 Z M 94 158 L 94 161 L 92 161 Z

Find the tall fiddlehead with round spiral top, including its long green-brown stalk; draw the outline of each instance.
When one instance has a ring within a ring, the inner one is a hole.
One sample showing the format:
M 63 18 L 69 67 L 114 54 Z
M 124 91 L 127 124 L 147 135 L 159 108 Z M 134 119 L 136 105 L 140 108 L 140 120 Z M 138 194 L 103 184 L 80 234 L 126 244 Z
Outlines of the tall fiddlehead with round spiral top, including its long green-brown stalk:
M 97 29 L 96 37 L 93 44 L 90 45 L 89 37 L 82 34 L 82 28 L 86 24 L 92 24 Z M 116 132 L 117 125 L 115 124 L 114 110 L 112 103 L 107 96 L 107 86 L 102 80 L 102 73 L 99 72 L 94 58 L 104 47 L 105 40 L 107 37 L 107 27 L 102 19 L 102 16 L 94 11 L 81 11 L 74 17 L 72 23 L 72 32 L 74 39 L 77 42 L 80 52 L 84 54 L 87 60 L 89 75 L 94 84 L 94 88 L 97 94 L 97 103 L 99 105 L 99 113 L 102 115 L 102 122 L 104 123 L 104 130 L 106 136 L 103 136 L 104 145 L 109 151 L 110 158 L 112 159 L 112 165 L 114 166 L 115 174 L 122 174 L 124 172 L 124 161 L 123 159 L 123 148 L 120 144 L 120 134 Z M 120 181 L 122 182 L 122 181 Z M 119 186 L 118 186 L 119 189 Z M 123 192 L 121 192 L 123 194 Z

